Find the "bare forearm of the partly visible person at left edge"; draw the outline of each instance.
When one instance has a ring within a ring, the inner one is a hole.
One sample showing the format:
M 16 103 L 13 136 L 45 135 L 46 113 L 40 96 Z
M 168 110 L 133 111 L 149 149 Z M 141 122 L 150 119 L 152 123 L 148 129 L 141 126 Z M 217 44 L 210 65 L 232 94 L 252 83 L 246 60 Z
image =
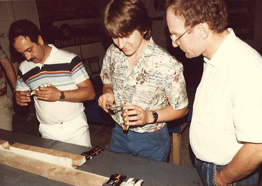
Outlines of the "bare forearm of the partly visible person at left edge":
M 14 67 L 11 64 L 11 61 L 6 57 L 0 60 L 0 63 L 4 67 L 7 78 L 10 81 L 12 87 L 14 88 L 16 85 L 16 75 L 15 75 Z

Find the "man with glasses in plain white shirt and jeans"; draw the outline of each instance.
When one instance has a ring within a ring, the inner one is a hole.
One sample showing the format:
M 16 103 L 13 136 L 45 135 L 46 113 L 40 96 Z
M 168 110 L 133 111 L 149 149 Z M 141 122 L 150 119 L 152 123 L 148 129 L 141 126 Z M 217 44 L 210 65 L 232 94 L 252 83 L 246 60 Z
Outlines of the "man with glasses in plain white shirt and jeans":
M 262 57 L 227 29 L 222 0 L 167 0 L 172 44 L 204 57 L 190 127 L 204 185 L 257 184 L 262 162 Z

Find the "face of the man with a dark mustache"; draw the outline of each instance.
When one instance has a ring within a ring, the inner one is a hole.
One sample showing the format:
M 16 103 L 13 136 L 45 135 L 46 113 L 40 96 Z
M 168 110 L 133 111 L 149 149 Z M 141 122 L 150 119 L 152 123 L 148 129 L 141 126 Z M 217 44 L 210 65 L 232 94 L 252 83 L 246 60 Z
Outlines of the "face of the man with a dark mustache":
M 45 57 L 45 49 L 42 41 L 40 37 L 38 41 L 39 44 L 36 44 L 31 42 L 30 38 L 20 35 L 15 39 L 13 46 L 17 52 L 24 55 L 27 61 L 43 64 L 44 62 L 42 61 Z

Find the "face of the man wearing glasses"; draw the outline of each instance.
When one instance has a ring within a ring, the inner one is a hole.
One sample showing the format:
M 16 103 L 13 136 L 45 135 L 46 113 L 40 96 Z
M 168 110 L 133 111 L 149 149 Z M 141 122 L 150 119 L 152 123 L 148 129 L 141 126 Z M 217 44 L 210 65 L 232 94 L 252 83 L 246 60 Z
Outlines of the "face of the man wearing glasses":
M 185 28 L 184 20 L 175 16 L 174 12 L 171 10 L 167 10 L 166 12 L 166 21 L 170 34 L 173 35 L 175 39 L 190 28 Z M 175 44 L 173 41 L 172 45 L 173 47 L 179 46 L 180 49 L 185 52 L 186 58 L 195 58 L 202 54 L 201 46 L 197 39 L 197 32 L 195 31 L 195 27 L 193 27 L 190 31 L 181 36 L 178 40 L 179 45 Z

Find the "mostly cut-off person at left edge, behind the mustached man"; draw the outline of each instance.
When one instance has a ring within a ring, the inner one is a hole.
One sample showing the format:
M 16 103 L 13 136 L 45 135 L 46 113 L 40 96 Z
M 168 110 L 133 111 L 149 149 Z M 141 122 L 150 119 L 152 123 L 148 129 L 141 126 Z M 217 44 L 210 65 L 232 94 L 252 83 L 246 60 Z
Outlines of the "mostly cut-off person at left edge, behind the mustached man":
M 5 51 L 0 46 L 0 63 L 4 68 L 12 88 L 15 88 L 16 75 L 11 61 L 7 58 Z M 4 80 L 4 72 L 0 66 L 0 128 L 12 131 L 12 108 L 11 101 L 7 97 L 7 87 Z

